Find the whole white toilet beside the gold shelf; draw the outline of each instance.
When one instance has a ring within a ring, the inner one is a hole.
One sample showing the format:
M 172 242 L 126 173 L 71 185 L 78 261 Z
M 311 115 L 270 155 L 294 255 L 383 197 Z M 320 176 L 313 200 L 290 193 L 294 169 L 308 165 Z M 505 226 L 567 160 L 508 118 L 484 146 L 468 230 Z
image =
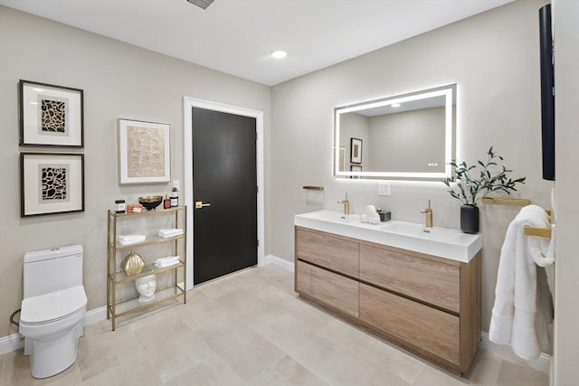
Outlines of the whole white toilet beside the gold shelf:
M 81 245 L 24 255 L 19 332 L 34 378 L 51 377 L 74 363 L 86 311 Z

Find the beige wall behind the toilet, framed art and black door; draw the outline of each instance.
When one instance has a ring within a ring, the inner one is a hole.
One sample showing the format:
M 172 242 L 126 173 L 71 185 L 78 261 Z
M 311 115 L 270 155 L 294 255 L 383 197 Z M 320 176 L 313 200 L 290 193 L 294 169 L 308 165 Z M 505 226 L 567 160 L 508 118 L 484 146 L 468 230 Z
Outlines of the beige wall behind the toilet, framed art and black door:
M 118 198 L 135 202 L 139 195 L 170 190 L 170 184 L 119 186 L 117 118 L 171 125 L 171 176 L 184 186 L 184 96 L 263 111 L 267 205 L 269 87 L 3 6 L 0 52 L 0 336 L 16 332 L 8 317 L 22 299 L 24 252 L 82 244 L 88 307 L 104 306 L 107 210 Z M 86 212 L 20 218 L 18 155 L 39 150 L 18 146 L 17 84 L 21 79 L 84 89 Z

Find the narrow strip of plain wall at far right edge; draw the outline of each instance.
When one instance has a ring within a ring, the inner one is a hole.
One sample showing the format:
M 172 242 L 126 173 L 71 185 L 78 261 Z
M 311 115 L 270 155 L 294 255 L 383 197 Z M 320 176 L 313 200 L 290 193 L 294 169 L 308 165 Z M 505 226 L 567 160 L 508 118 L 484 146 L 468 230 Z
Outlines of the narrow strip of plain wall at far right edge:
M 579 165 L 579 2 L 555 0 L 555 262 L 554 385 L 577 384 L 579 363 L 579 254 L 577 165 Z

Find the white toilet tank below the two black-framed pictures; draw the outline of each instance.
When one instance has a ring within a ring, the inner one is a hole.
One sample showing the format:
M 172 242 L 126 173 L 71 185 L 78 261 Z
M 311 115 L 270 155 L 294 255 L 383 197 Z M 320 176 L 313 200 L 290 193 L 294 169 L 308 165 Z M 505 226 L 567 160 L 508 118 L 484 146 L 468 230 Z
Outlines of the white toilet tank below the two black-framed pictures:
M 34 250 L 24 255 L 24 298 L 81 285 L 81 245 Z

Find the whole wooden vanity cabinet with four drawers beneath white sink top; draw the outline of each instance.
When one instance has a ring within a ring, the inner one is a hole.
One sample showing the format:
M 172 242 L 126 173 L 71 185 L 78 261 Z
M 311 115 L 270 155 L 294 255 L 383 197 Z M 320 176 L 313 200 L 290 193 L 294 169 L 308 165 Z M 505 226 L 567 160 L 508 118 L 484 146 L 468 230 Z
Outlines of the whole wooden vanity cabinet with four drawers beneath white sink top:
M 480 340 L 480 251 L 463 263 L 296 227 L 295 290 L 458 374 Z

